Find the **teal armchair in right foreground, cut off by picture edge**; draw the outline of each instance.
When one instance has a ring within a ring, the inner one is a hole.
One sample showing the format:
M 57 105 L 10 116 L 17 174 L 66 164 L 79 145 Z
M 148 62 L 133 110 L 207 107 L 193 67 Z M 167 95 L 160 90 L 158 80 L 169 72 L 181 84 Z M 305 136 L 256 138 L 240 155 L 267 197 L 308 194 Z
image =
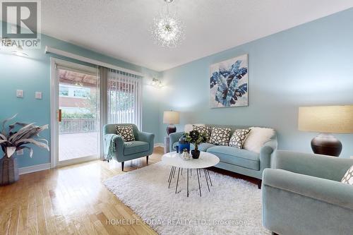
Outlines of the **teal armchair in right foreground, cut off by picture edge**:
M 289 151 L 263 171 L 263 225 L 274 234 L 353 234 L 353 159 Z

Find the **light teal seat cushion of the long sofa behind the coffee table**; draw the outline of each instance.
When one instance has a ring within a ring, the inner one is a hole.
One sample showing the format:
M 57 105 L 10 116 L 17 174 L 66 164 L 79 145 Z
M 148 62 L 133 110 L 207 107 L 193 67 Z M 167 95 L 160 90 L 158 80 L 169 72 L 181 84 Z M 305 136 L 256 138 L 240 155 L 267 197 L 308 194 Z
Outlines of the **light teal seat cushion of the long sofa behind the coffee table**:
M 220 162 L 226 162 L 257 171 L 260 170 L 260 155 L 256 152 L 229 146 L 210 147 L 207 152 L 213 153 L 219 157 Z

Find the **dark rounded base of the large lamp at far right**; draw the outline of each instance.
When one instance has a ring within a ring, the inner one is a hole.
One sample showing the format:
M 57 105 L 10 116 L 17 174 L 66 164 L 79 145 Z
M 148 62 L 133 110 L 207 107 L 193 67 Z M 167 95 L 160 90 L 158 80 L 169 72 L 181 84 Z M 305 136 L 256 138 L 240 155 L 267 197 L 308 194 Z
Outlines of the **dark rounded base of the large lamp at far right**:
M 311 149 L 318 155 L 340 156 L 342 143 L 329 133 L 320 133 L 311 140 Z

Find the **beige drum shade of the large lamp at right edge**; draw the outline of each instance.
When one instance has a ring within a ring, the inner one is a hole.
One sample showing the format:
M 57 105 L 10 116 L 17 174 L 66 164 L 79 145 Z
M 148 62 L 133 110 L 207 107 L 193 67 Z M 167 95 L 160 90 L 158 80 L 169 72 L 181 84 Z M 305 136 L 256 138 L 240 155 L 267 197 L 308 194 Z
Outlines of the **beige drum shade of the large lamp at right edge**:
M 353 133 L 353 105 L 299 107 L 299 131 Z

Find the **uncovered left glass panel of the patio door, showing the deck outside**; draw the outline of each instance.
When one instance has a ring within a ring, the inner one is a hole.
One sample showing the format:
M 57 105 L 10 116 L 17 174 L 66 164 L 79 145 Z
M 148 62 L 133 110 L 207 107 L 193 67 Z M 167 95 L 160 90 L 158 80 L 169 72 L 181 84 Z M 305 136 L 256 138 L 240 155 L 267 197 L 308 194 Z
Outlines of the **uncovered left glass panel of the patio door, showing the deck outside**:
M 56 64 L 59 165 L 97 159 L 100 155 L 100 83 L 97 68 Z

